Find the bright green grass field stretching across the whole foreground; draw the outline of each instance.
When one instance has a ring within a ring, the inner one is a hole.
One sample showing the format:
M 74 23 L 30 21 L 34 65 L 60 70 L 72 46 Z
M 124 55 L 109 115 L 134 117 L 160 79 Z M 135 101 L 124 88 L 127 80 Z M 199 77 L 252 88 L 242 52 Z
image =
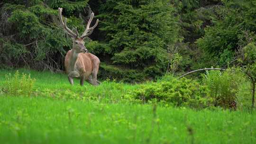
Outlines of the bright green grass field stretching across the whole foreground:
M 138 85 L 68 83 L 35 72 L 32 97 L 0 95 L 0 144 L 255 144 L 255 111 L 193 110 L 125 98 Z M 0 71 L 4 75 L 15 71 Z M 154 110 L 155 109 L 155 110 Z

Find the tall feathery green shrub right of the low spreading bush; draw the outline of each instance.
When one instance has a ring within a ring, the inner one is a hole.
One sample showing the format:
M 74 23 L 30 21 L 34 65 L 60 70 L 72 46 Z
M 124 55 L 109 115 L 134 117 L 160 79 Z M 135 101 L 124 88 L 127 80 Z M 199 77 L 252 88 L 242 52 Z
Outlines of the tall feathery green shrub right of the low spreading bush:
M 214 99 L 214 106 L 223 108 L 237 107 L 237 94 L 245 76 L 240 69 L 228 69 L 225 72 L 210 71 L 203 77 L 203 84 Z

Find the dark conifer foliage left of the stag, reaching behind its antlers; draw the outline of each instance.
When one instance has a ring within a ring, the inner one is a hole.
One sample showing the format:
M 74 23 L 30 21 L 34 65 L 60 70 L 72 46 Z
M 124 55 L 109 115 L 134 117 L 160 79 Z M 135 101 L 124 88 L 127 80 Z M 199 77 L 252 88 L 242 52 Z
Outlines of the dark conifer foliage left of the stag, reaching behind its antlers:
M 0 62 L 37 70 L 63 69 L 71 40 L 59 25 L 58 7 L 64 8 L 69 27 L 84 30 L 79 12 L 88 0 L 4 0 L 0 7 Z M 76 17 L 77 16 L 77 17 Z

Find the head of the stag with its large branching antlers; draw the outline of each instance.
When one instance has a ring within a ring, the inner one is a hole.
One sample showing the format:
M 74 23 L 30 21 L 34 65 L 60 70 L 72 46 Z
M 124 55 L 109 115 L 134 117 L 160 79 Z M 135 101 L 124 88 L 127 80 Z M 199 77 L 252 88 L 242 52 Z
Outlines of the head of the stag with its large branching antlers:
M 73 40 L 73 50 L 76 53 L 86 53 L 87 49 L 84 46 L 84 41 L 83 39 L 87 36 L 90 36 L 91 33 L 93 32 L 93 29 L 98 25 L 99 19 L 97 19 L 96 23 L 94 24 L 93 27 L 90 27 L 91 25 L 91 21 L 94 17 L 94 13 L 91 13 L 91 17 L 87 23 L 86 29 L 83 32 L 82 36 L 79 36 L 78 31 L 77 31 L 77 27 L 75 27 L 76 33 L 74 33 L 71 29 L 69 29 L 67 27 L 67 18 L 65 18 L 64 22 L 63 22 L 63 17 L 62 17 L 62 8 L 59 8 L 59 18 L 60 18 L 60 22 L 62 24 L 62 26 L 64 27 L 64 29 L 66 30 L 68 36 L 70 36 Z

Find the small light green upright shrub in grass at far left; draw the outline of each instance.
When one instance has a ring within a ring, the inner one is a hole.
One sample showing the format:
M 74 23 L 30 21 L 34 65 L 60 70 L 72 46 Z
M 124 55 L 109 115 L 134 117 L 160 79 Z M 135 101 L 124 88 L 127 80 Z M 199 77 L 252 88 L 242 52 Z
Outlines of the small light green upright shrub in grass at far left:
M 34 87 L 35 79 L 30 78 L 30 74 L 20 74 L 18 71 L 14 75 L 5 75 L 3 92 L 11 96 L 30 96 Z

